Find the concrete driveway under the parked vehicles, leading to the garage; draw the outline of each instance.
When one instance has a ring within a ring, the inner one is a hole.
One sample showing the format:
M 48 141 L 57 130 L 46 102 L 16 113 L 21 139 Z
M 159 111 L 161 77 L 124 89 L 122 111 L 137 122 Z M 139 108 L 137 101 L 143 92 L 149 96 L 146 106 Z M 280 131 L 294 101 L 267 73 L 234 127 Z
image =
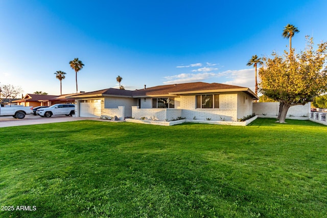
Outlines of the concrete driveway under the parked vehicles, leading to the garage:
M 45 117 L 35 116 L 32 114 L 27 114 L 24 119 L 15 119 L 12 116 L 0 116 L 0 128 L 35 125 L 35 124 L 60 123 L 60 122 L 69 122 L 69 121 L 77 121 L 77 120 L 85 120 L 85 119 L 101 120 L 100 118 L 72 117 L 72 116 L 65 116 L 65 115 L 45 118 Z

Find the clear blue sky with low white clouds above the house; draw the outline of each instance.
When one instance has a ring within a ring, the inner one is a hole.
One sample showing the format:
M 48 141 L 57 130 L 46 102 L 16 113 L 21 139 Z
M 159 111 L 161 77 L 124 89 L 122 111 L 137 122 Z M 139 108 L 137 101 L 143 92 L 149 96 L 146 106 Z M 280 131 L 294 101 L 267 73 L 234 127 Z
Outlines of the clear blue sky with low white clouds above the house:
M 327 1 L 35 1 L 0 0 L 0 83 L 24 93 L 76 92 L 68 62 L 85 64 L 79 91 L 203 81 L 250 87 L 252 55 L 282 54 L 291 23 L 305 36 L 327 40 Z

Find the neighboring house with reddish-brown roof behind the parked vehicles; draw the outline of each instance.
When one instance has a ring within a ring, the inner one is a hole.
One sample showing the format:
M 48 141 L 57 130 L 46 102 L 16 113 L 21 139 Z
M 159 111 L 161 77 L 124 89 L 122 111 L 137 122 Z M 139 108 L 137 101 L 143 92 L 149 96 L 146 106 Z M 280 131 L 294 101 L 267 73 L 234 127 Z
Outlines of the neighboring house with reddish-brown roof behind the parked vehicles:
M 67 97 L 71 95 L 73 94 L 59 96 L 49 94 L 26 94 L 24 98 L 12 102 L 17 103 L 18 105 L 32 107 L 51 106 L 54 104 L 74 103 L 75 99 Z

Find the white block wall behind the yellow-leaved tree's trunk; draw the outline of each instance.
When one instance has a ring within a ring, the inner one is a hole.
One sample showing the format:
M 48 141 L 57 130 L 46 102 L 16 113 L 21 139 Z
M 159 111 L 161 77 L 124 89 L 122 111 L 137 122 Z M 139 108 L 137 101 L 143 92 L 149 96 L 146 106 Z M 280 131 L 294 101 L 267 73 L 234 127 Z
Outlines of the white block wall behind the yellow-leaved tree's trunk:
M 258 102 L 253 103 L 253 113 L 256 115 L 277 116 L 279 102 Z M 311 103 L 305 105 L 295 105 L 289 108 L 286 116 L 307 116 L 311 111 Z

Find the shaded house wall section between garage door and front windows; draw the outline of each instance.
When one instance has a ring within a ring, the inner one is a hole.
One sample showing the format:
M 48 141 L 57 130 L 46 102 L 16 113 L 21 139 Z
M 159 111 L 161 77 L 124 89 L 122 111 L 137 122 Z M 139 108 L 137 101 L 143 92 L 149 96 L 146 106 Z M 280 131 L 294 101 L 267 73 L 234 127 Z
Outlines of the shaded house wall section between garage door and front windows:
M 132 116 L 132 106 L 137 106 L 137 99 L 119 98 L 119 97 L 105 97 L 104 104 L 102 104 L 101 113 L 103 109 L 116 109 L 119 106 L 125 107 L 125 117 Z M 105 115 L 105 114 L 103 114 Z

